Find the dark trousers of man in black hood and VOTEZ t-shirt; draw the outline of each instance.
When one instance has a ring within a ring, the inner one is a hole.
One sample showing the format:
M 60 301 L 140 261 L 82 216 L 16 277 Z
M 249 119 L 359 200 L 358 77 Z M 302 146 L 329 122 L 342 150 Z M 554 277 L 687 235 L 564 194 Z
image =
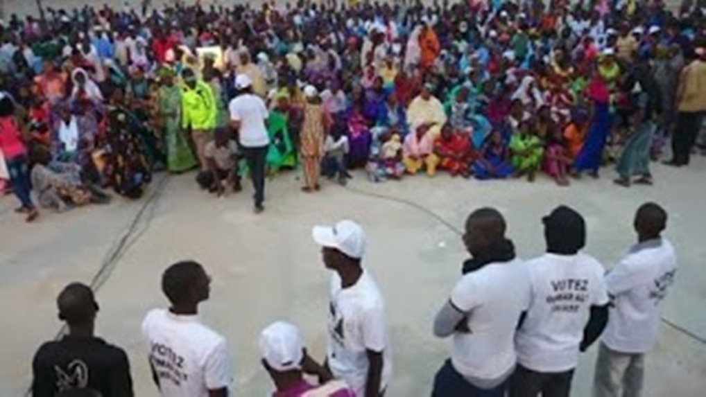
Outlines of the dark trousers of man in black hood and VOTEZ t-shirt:
M 574 370 L 535 372 L 517 365 L 510 386 L 510 397 L 568 397 Z

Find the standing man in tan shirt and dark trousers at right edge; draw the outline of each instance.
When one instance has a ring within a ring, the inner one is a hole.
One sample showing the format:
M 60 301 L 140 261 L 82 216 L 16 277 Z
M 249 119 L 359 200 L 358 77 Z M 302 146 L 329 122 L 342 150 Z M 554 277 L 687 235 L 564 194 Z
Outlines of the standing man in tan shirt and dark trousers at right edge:
M 679 75 L 676 127 L 671 138 L 672 158 L 664 163 L 669 166 L 689 165 L 691 148 L 701 127 L 701 117 L 706 112 L 706 47 L 698 47 L 694 52 L 697 58 Z

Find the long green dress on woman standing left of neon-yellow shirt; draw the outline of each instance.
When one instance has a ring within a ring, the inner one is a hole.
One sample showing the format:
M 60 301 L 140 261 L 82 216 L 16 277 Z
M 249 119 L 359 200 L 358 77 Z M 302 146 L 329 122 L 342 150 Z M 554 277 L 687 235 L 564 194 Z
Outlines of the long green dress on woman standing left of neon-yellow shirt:
M 167 169 L 170 172 L 189 171 L 196 167 L 198 162 L 180 126 L 181 87 L 178 85 L 160 87 L 159 106 L 164 142 L 167 147 Z

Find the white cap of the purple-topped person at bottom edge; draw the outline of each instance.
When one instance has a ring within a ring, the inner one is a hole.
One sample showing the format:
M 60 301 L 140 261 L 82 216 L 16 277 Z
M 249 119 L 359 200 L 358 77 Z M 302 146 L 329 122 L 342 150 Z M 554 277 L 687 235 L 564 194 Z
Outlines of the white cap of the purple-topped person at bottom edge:
M 275 371 L 301 369 L 304 345 L 297 326 L 282 321 L 267 326 L 260 334 L 260 353 Z

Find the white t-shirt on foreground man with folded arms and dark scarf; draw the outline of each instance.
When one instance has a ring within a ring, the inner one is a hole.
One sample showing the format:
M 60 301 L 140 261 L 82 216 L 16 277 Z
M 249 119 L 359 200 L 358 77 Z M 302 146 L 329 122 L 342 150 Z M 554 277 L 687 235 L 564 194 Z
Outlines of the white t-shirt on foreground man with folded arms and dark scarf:
M 465 377 L 495 380 L 515 367 L 513 336 L 530 303 L 530 283 L 520 259 L 486 264 L 462 277 L 451 303 L 468 316 L 469 334 L 453 336 L 451 362 Z

